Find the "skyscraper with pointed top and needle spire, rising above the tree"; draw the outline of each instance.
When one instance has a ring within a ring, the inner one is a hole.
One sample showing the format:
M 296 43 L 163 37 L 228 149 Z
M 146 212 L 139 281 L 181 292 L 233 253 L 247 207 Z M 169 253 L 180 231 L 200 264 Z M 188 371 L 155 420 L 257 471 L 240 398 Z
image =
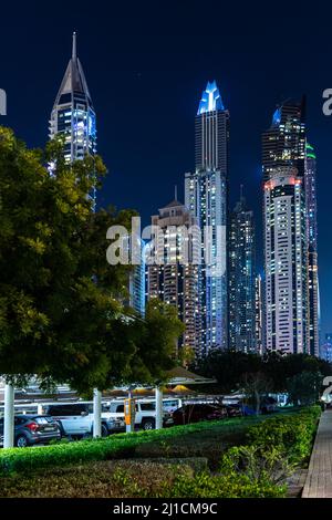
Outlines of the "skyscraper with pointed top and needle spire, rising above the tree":
M 50 138 L 64 139 L 64 158 L 68 163 L 96 153 L 95 112 L 76 53 L 76 34 L 73 33 L 72 58 L 61 82 L 50 119 Z M 52 165 L 51 165 L 52 169 Z M 93 175 L 93 173 L 92 173 Z M 95 194 L 91 194 L 93 199 Z

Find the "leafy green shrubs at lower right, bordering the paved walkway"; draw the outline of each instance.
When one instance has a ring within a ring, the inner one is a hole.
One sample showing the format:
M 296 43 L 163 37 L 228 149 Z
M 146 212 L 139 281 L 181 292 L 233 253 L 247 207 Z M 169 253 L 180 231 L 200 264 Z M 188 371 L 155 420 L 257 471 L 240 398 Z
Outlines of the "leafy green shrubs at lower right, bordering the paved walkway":
M 283 498 L 287 478 L 308 464 L 321 409 L 313 406 L 253 426 L 247 444 L 230 448 L 218 474 L 179 477 L 165 497 Z

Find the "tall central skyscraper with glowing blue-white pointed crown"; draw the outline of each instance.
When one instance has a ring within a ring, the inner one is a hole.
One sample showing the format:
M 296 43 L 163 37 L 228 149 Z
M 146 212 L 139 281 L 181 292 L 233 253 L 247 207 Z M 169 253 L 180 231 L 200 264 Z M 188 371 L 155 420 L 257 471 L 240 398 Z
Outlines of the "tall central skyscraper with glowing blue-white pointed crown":
M 227 310 L 227 212 L 229 167 L 229 112 L 216 82 L 208 83 L 195 123 L 195 171 L 185 175 L 185 204 L 197 218 L 201 242 L 199 302 L 201 355 L 226 349 Z M 209 249 L 210 256 L 206 251 Z

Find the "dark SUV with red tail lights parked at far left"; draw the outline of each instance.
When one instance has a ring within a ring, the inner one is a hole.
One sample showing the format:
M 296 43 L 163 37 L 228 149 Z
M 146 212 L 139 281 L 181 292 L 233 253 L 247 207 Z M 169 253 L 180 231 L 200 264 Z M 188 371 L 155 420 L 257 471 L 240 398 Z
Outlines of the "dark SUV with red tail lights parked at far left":
M 59 425 L 46 415 L 15 415 L 14 445 L 19 448 L 61 439 Z M 0 445 L 3 446 L 3 417 L 0 418 Z

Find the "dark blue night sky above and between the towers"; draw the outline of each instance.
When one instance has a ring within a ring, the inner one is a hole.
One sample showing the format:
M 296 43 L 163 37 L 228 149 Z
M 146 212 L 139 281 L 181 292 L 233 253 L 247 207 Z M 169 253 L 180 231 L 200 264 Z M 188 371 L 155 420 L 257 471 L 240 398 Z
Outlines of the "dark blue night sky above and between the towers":
M 75 30 L 98 153 L 110 170 L 98 202 L 135 208 L 147 225 L 174 198 L 175 185 L 184 198 L 184 173 L 194 168 L 195 114 L 215 79 L 231 117 L 231 205 L 243 184 L 260 237 L 261 132 L 279 102 L 305 93 L 318 155 L 324 334 L 332 331 L 332 116 L 322 113 L 322 92 L 332 89 L 332 6 L 266 3 L 3 2 L 0 87 L 8 115 L 0 124 L 29 146 L 44 145 Z

